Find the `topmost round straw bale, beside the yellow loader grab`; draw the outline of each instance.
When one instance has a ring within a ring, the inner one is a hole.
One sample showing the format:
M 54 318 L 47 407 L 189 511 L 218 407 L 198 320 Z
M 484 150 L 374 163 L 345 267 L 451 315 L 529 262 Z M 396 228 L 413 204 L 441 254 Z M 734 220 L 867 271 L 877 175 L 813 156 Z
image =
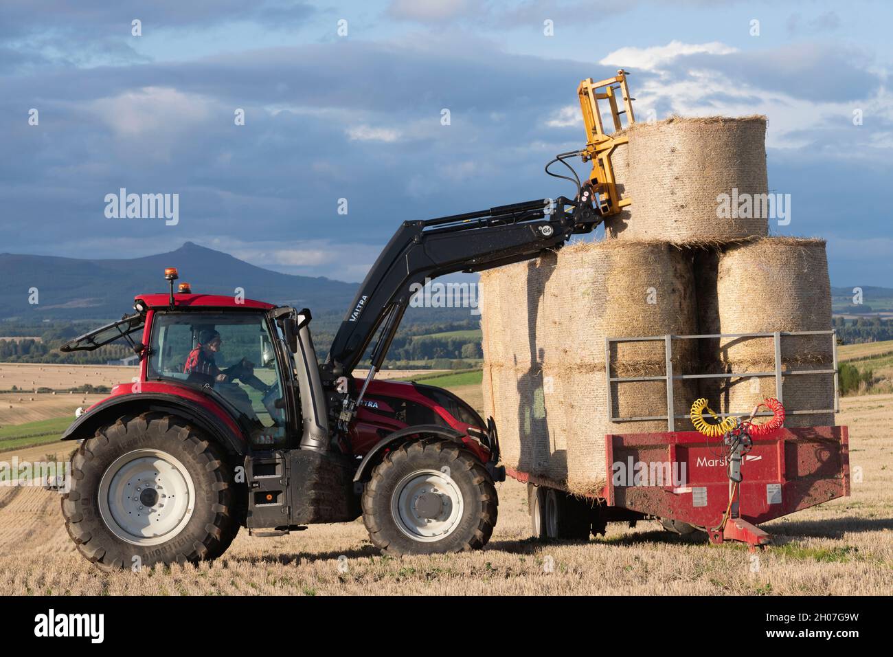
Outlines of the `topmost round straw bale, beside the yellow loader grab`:
M 765 132 L 764 116 L 634 123 L 624 181 L 631 213 L 607 222 L 608 234 L 686 244 L 766 235 Z

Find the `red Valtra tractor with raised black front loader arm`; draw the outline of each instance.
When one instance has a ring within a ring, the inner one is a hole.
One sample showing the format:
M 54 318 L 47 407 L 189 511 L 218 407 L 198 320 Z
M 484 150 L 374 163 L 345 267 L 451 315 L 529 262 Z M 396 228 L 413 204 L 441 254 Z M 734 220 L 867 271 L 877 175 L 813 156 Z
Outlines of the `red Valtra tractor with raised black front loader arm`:
M 374 381 L 413 284 L 537 257 L 601 221 L 588 193 L 405 222 L 325 362 L 309 310 L 174 291 L 66 343 L 129 341 L 139 377 L 80 415 L 65 526 L 101 569 L 220 556 L 237 535 L 363 516 L 390 554 L 482 547 L 497 522 L 497 429 L 454 394 Z M 364 378 L 352 374 L 369 349 Z

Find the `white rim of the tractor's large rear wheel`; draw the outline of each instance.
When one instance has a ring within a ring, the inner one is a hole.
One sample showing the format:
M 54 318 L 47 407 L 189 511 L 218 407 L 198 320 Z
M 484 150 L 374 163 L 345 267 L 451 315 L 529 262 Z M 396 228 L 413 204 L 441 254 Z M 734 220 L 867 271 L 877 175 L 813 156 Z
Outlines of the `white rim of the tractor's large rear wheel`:
M 133 545 L 170 541 L 192 518 L 195 499 L 186 467 L 159 450 L 123 454 L 99 482 L 99 515 L 114 535 Z

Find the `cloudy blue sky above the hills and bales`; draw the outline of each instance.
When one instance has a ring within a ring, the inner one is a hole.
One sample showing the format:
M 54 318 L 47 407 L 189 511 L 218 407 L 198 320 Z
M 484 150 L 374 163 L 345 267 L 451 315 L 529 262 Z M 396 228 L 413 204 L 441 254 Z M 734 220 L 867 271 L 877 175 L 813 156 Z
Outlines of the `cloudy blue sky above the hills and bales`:
M 622 67 L 639 117 L 766 114 L 771 232 L 893 287 L 890 25 L 886 2 L 0 0 L 0 251 L 191 240 L 359 281 L 405 220 L 572 196 L 543 166 L 585 145 L 580 80 Z M 107 216 L 121 189 L 177 194 L 177 222 Z

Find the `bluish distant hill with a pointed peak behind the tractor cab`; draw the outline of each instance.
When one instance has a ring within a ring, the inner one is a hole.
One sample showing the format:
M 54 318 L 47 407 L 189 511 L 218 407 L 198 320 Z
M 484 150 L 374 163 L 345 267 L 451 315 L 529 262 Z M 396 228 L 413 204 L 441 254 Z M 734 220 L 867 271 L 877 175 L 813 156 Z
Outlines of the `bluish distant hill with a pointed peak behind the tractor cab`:
M 280 274 L 193 242 L 170 253 L 132 259 L 87 260 L 71 257 L 0 254 L 0 319 L 107 319 L 132 309 L 136 294 L 167 291 L 164 267 L 177 267 L 179 282 L 193 291 L 234 294 L 248 299 L 320 313 L 343 314 L 356 283 Z M 30 304 L 37 288 L 38 304 Z

